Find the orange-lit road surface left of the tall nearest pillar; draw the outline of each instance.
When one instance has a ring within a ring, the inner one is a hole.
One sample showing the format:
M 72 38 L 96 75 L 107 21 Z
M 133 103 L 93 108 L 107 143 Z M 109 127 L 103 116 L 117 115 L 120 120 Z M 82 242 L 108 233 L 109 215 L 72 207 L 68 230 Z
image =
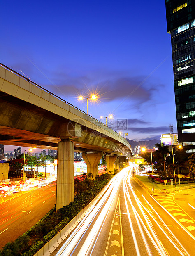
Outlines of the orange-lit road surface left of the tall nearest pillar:
M 56 204 L 56 181 L 0 204 L 0 248 L 35 225 Z

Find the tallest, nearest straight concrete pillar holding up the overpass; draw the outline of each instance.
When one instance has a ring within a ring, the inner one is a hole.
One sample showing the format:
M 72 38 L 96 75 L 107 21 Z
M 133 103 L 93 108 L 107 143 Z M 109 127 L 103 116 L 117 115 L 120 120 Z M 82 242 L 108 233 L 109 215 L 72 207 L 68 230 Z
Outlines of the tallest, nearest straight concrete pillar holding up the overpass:
M 74 200 L 74 142 L 58 142 L 56 211 Z

